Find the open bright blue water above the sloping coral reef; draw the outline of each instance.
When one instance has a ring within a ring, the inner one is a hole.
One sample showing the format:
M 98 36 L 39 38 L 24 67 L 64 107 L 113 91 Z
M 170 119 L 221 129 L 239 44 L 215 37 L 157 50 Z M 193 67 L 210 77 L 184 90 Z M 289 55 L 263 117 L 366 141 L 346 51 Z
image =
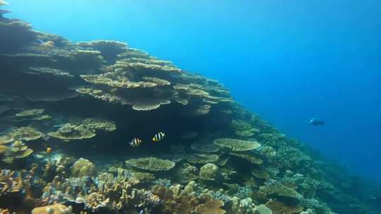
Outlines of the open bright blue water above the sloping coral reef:
M 381 182 L 381 1 L 11 1 L 73 41 L 116 39 L 226 84 L 244 106 Z M 310 118 L 325 120 L 313 127 Z

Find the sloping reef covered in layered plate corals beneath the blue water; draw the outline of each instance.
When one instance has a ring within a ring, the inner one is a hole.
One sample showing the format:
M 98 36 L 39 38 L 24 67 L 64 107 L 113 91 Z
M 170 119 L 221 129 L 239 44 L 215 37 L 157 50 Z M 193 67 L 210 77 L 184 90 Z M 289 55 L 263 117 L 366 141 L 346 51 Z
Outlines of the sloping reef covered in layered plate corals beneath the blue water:
M 126 43 L 0 15 L 0 75 L 1 214 L 381 213 L 374 184 Z

